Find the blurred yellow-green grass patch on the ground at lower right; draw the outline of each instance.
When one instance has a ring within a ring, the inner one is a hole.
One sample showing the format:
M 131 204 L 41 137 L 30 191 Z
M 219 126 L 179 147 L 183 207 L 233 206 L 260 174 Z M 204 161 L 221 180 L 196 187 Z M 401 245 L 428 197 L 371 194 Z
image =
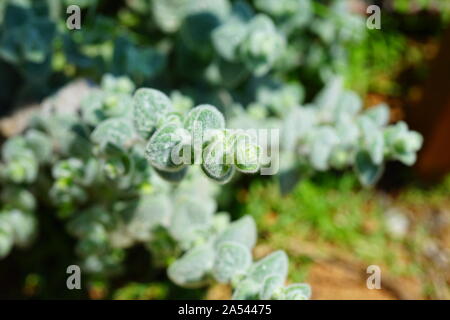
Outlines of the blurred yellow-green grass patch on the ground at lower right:
M 414 276 L 424 270 L 418 257 L 432 235 L 418 221 L 404 237 L 396 237 L 384 213 L 391 207 L 442 205 L 449 194 L 450 178 L 429 190 L 411 187 L 392 197 L 361 189 L 352 175 L 324 174 L 301 181 L 287 196 L 275 182 L 255 181 L 243 197 L 241 213 L 255 217 L 263 244 L 287 250 L 292 280 L 304 279 L 312 262 L 302 246 L 312 246 L 314 255 L 343 253 L 387 266 L 393 275 Z

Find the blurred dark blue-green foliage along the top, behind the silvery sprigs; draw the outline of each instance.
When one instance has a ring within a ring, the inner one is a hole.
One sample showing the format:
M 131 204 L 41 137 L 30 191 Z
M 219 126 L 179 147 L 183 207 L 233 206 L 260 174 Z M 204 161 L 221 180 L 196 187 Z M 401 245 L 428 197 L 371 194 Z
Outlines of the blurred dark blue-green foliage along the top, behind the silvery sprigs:
M 363 18 L 341 0 L 86 0 L 75 3 L 81 30 L 65 25 L 69 3 L 2 2 L 0 66 L 17 78 L 3 104 L 45 96 L 77 76 L 99 81 L 105 72 L 219 107 L 230 98 L 252 101 L 260 79 L 300 77 L 314 93 L 346 65 L 345 45 L 364 36 Z

